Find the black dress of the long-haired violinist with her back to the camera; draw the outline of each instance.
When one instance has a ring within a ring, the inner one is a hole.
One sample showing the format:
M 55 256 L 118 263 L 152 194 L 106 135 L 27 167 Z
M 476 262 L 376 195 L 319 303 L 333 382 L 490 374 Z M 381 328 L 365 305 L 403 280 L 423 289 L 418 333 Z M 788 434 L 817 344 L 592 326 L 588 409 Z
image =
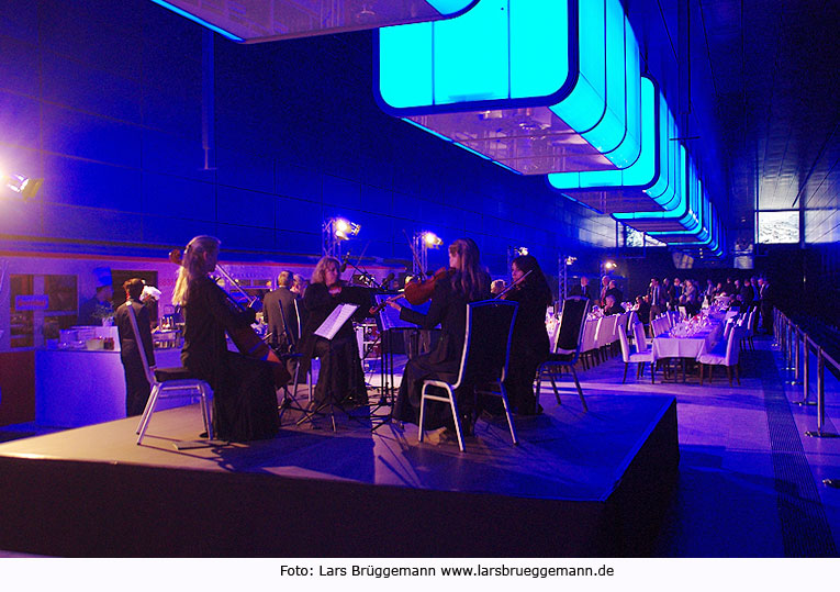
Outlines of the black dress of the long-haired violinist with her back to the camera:
M 485 286 L 490 286 L 486 278 Z M 480 294 L 477 300 L 490 298 L 490 289 Z M 467 304 L 471 302 L 464 294 L 458 293 L 449 280 L 439 280 L 432 293 L 432 304 L 428 313 L 422 314 L 403 306 L 400 319 L 414 323 L 421 328 L 432 329 L 440 324 L 440 338 L 435 348 L 408 360 L 405 365 L 400 391 L 394 401 L 392 416 L 401 422 L 417 424 L 419 422 L 419 401 L 423 381 L 436 378 L 452 382 L 458 376 L 463 353 L 463 337 L 467 331 Z M 544 312 L 545 314 L 545 312 Z M 459 412 L 462 420 L 471 425 L 474 401 L 472 393 L 456 393 Z M 424 412 L 424 428 L 453 427 L 452 412 L 449 405 L 438 401 L 426 403 Z

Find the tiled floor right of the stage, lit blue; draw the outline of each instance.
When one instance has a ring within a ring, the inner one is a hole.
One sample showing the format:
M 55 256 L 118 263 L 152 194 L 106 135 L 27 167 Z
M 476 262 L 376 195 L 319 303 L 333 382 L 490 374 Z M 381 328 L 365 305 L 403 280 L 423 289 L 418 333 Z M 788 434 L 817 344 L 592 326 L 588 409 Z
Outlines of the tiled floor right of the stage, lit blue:
M 822 557 L 840 548 L 840 438 L 811 438 L 816 407 L 792 402 L 802 386 L 789 375 L 771 339 L 757 339 L 741 358 L 741 386 L 729 387 L 721 369 L 715 381 L 657 383 L 636 380 L 612 359 L 582 372 L 584 392 L 670 393 L 677 400 L 680 480 L 658 541 L 663 557 Z M 816 400 L 816 360 L 811 358 Z M 827 415 L 840 418 L 840 388 L 826 371 Z M 573 389 L 565 384 L 565 392 Z M 547 392 L 544 389 L 544 393 Z M 550 398 L 544 399 L 548 404 Z M 544 403 L 545 404 L 545 403 Z M 826 432 L 835 432 L 829 422 Z

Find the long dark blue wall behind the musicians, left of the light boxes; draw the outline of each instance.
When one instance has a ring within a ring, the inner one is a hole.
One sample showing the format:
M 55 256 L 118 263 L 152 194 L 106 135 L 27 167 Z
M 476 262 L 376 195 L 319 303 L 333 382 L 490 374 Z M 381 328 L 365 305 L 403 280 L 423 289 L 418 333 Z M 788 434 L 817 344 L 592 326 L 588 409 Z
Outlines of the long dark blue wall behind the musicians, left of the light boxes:
M 0 241 L 120 254 L 206 233 L 239 257 L 281 259 L 320 255 L 321 222 L 341 214 L 362 226 L 355 254 L 370 242 L 367 255 L 408 259 L 403 230 L 432 230 L 475 238 L 496 275 L 508 245 L 553 271 L 560 252 L 595 260 L 615 244 L 613 221 L 542 177 L 381 113 L 370 32 L 215 36 L 204 170 L 204 35 L 147 0 L 0 0 L 0 167 L 45 178 L 35 200 L 0 200 Z

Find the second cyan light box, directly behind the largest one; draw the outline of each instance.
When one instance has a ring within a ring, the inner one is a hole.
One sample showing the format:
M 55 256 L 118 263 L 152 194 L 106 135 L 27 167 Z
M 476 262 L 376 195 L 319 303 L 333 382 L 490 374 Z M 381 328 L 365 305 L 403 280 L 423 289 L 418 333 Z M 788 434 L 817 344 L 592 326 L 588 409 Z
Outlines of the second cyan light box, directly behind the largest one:
M 555 189 L 573 192 L 575 200 L 604 213 L 661 210 L 645 190 L 668 177 L 668 104 L 653 79 L 641 77 L 641 142 L 639 157 L 618 170 L 555 172 Z

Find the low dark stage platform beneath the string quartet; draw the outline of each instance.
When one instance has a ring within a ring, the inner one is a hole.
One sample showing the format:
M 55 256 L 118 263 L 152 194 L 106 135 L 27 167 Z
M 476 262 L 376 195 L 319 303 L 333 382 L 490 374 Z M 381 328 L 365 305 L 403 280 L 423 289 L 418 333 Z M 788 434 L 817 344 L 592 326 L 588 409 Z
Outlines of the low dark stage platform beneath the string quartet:
M 0 549 L 67 557 L 634 557 L 675 483 L 673 396 L 570 396 L 456 444 L 339 416 L 177 450 L 197 405 L 0 445 Z M 359 413 L 355 410 L 354 413 Z M 381 411 L 380 411 L 381 412 Z M 288 420 L 289 417 L 287 417 Z M 285 421 L 284 424 L 289 422 Z

